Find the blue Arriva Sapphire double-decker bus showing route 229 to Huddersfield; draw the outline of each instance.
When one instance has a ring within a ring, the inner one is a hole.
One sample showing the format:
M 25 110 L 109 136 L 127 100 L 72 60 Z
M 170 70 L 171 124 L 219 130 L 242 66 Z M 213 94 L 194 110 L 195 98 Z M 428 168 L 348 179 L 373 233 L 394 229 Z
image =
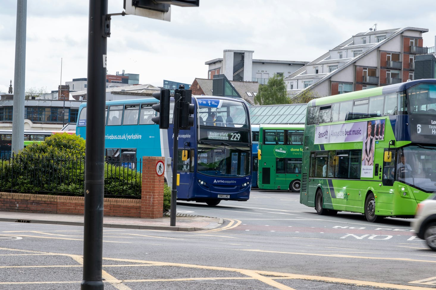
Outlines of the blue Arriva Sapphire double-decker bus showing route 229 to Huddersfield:
M 165 181 L 172 187 L 174 99 L 168 129 L 159 129 L 151 120 L 156 103 L 155 98 L 106 102 L 106 161 L 136 169 L 143 156 L 163 156 Z M 177 199 L 209 206 L 248 200 L 252 136 L 247 104 L 217 96 L 192 96 L 192 103 L 194 126 L 178 134 Z M 79 107 L 78 116 L 76 134 L 85 138 L 86 104 Z

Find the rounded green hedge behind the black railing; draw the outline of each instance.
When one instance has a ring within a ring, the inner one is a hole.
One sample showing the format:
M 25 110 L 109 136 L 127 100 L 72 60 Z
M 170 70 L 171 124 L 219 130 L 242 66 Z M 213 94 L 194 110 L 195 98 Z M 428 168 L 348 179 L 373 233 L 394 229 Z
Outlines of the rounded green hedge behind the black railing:
M 13 161 L 12 161 L 13 160 Z M 18 192 L 83 196 L 85 140 L 68 133 L 26 146 L 12 159 L 0 162 L 0 189 Z M 105 162 L 105 192 L 111 196 L 141 196 L 142 175 Z M 171 189 L 164 185 L 164 212 Z

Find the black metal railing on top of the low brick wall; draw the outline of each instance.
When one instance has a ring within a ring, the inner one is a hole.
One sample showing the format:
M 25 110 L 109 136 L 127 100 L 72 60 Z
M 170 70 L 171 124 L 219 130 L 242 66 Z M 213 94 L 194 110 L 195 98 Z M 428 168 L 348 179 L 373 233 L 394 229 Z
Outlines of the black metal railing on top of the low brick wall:
M 142 162 L 105 162 L 104 196 L 140 198 L 141 165 Z M 84 196 L 85 159 L 12 157 L 0 160 L 0 191 Z

